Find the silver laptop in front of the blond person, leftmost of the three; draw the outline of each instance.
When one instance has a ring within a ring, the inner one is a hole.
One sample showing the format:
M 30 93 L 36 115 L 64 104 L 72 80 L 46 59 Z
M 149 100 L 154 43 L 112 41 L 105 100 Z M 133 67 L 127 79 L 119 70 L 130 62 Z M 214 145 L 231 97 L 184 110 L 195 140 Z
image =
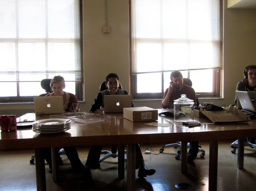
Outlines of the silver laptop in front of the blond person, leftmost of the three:
M 35 113 L 64 113 L 62 96 L 34 97 Z

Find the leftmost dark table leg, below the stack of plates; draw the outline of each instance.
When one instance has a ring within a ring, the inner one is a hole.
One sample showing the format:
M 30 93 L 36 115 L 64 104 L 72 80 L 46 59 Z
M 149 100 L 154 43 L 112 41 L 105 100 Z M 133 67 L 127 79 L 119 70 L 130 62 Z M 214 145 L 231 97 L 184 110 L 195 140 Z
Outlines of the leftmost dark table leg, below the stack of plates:
M 36 159 L 36 188 L 37 191 L 46 190 L 46 178 L 45 178 L 45 162 L 43 156 L 43 148 L 35 149 Z

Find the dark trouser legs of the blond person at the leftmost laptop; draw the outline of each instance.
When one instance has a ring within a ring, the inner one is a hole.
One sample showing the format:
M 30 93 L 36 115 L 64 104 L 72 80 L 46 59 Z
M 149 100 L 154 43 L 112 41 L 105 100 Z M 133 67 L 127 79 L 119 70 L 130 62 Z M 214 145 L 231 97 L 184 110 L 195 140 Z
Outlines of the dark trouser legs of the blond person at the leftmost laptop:
M 81 167 L 82 162 L 80 161 L 76 147 L 63 147 L 72 168 Z M 43 154 L 46 162 L 49 164 L 49 168 L 52 169 L 52 150 L 51 148 L 43 148 Z M 59 158 L 60 160 L 60 158 Z

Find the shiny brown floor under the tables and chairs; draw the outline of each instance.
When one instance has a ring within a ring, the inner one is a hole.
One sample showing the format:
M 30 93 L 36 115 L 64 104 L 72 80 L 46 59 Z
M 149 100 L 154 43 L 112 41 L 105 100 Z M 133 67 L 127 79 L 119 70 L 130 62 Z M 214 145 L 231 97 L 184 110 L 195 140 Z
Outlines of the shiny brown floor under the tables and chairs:
M 218 154 L 218 191 L 255 190 L 256 187 L 256 149 L 245 147 L 244 170 L 237 169 L 237 154 L 231 153 L 230 143 L 233 140 L 219 141 Z M 200 142 L 205 150 L 205 157 L 198 153 L 193 165 L 188 165 L 188 175 L 180 172 L 180 160 L 176 160 L 177 148 L 166 148 L 163 153 L 159 149 L 164 144 L 142 144 L 141 150 L 152 149 L 154 154 L 144 154 L 147 167 L 156 170 L 152 176 L 136 177 L 136 191 L 170 191 L 177 183 L 188 183 L 190 190 L 208 190 L 209 143 Z M 110 147 L 104 147 L 109 150 Z M 89 147 L 77 148 L 82 163 L 85 163 Z M 30 164 L 34 150 L 2 150 L 0 151 L 0 190 L 34 191 L 36 190 L 35 164 Z M 92 170 L 93 184 L 89 187 L 80 181 L 80 174 L 71 170 L 69 160 L 61 156 L 64 165 L 60 167 L 60 181 L 54 183 L 52 174 L 45 165 L 47 191 L 88 190 L 119 191 L 125 190 L 125 179 L 118 179 L 117 159 L 109 158 L 101 163 L 101 167 Z M 126 169 L 125 169 L 126 172 Z M 138 170 L 136 170 L 136 175 Z M 239 180 L 239 181 L 237 181 Z

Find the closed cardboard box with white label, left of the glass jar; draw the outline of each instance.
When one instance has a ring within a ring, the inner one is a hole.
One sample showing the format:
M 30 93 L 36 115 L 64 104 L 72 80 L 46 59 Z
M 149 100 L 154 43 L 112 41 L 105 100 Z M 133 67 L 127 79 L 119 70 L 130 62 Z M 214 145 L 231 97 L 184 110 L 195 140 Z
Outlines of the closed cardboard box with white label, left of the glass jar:
M 124 118 L 133 122 L 158 120 L 158 110 L 148 107 L 124 108 Z

